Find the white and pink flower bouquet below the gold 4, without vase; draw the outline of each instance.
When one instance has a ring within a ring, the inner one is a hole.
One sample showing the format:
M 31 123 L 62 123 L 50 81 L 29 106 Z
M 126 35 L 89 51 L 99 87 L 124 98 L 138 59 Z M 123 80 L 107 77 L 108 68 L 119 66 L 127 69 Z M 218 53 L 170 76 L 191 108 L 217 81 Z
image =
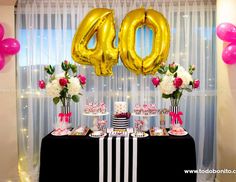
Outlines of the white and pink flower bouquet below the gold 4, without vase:
M 72 99 L 74 102 L 79 102 L 81 89 L 86 84 L 84 75 L 77 75 L 77 66 L 69 63 L 67 60 L 61 63 L 61 68 L 64 71 L 60 74 L 55 74 L 55 67 L 48 65 L 44 70 L 49 74 L 49 81 L 46 84 L 44 80 L 38 82 L 40 89 L 46 89 L 47 95 L 53 97 L 53 103 L 58 104 L 60 101 L 63 106 L 66 101 Z

